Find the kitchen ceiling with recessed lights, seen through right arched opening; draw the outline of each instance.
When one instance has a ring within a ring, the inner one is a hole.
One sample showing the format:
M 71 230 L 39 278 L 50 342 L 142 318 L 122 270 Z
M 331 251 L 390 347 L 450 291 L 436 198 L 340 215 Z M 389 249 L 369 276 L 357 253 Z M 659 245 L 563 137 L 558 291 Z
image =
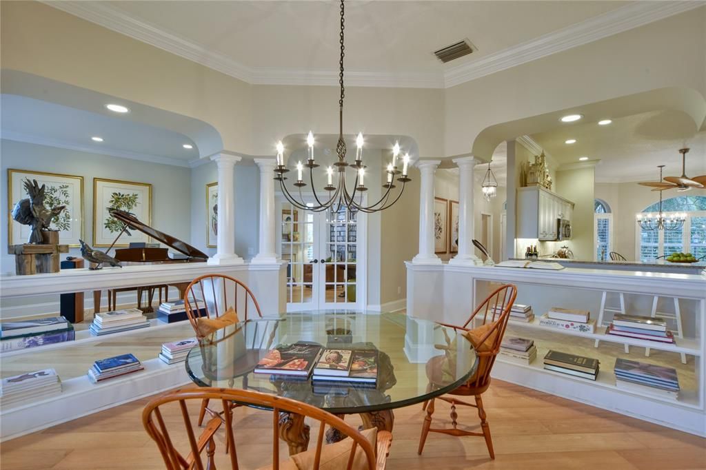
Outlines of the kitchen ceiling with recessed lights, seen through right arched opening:
M 608 117 L 608 116 L 606 116 Z M 682 112 L 656 111 L 616 118 L 607 126 L 596 121 L 561 124 L 531 135 L 558 164 L 575 164 L 580 157 L 599 160 L 596 181 L 657 180 L 657 165 L 664 175 L 681 175 L 678 150 L 690 147 L 686 174 L 706 174 L 706 132 L 693 133 L 693 120 Z M 566 140 L 576 143 L 566 144 Z

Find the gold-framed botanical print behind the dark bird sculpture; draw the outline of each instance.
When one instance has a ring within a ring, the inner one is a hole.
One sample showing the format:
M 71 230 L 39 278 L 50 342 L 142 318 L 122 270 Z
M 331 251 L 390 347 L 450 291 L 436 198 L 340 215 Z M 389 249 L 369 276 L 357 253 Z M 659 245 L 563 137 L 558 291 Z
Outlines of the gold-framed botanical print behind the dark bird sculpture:
M 23 183 L 25 179 L 35 179 L 40 186 L 44 185 L 44 205 L 49 209 L 66 206 L 52 219 L 49 228 L 59 231 L 62 245 L 79 246 L 78 239 L 83 239 L 83 176 L 20 169 L 7 171 L 8 243 L 19 245 L 29 239 L 30 227 L 12 219 L 15 204 L 29 197 Z

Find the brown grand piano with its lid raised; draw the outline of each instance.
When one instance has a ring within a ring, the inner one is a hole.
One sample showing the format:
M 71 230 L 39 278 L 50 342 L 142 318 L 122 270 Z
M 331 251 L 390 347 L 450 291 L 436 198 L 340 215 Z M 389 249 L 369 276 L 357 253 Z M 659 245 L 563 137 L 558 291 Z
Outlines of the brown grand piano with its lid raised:
M 130 212 L 125 212 L 119 209 L 109 209 L 108 212 L 112 217 L 124 222 L 125 230 L 138 230 L 143 234 L 152 237 L 156 241 L 160 241 L 174 250 L 181 253 L 179 258 L 169 258 L 169 248 L 152 248 L 152 247 L 138 247 L 138 248 L 116 248 L 114 258 L 119 260 L 122 265 L 143 265 L 143 264 L 165 264 L 165 263 L 205 263 L 208 260 L 208 255 L 194 248 L 184 241 L 181 241 L 174 236 L 165 234 L 148 224 L 140 222 L 140 220 L 132 215 Z M 118 292 L 123 291 L 137 291 L 137 304 L 138 308 L 143 310 L 145 313 L 152 312 L 152 298 L 155 295 L 155 291 L 159 292 L 160 303 L 162 303 L 162 291 L 164 291 L 164 296 L 166 300 L 167 289 L 169 286 L 176 287 L 179 289 L 179 298 L 184 298 L 184 290 L 189 285 L 189 282 L 174 282 L 167 284 L 159 284 L 153 286 L 137 286 L 137 287 L 125 287 L 121 289 L 110 289 L 108 291 L 108 309 L 114 310 L 116 308 L 116 297 Z M 142 305 L 142 294 L 147 292 L 147 305 L 143 307 Z M 100 312 L 100 301 L 101 301 L 102 291 L 93 291 L 93 312 Z

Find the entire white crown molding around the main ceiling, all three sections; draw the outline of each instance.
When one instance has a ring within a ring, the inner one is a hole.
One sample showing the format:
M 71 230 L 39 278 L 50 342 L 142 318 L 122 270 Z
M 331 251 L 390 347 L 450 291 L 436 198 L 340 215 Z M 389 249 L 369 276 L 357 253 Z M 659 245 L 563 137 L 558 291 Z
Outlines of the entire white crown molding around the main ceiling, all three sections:
M 224 54 L 210 51 L 202 44 L 191 42 L 179 37 L 174 32 L 133 18 L 120 11 L 119 8 L 114 8 L 101 1 L 44 0 L 43 3 L 253 85 L 336 86 L 338 83 L 337 71 L 245 66 Z M 706 5 L 706 1 L 701 0 L 635 1 L 627 6 L 616 8 L 614 11 L 594 16 L 537 39 L 517 44 L 467 64 L 447 68 L 438 73 L 349 71 L 346 73 L 346 81 L 349 86 L 359 87 L 450 88 L 704 5 Z

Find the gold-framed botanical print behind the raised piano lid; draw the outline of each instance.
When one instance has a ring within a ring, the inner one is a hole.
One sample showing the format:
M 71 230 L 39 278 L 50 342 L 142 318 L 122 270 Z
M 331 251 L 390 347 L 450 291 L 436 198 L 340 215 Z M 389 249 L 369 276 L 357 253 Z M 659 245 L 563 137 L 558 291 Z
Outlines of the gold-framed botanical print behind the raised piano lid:
M 93 179 L 93 246 L 110 246 L 122 231 L 124 224 L 108 213 L 108 208 L 131 212 L 145 224 L 152 223 L 152 185 L 118 181 L 114 179 Z M 128 230 L 120 236 L 115 246 L 128 246 L 130 243 L 147 242 L 150 237 L 141 231 Z

